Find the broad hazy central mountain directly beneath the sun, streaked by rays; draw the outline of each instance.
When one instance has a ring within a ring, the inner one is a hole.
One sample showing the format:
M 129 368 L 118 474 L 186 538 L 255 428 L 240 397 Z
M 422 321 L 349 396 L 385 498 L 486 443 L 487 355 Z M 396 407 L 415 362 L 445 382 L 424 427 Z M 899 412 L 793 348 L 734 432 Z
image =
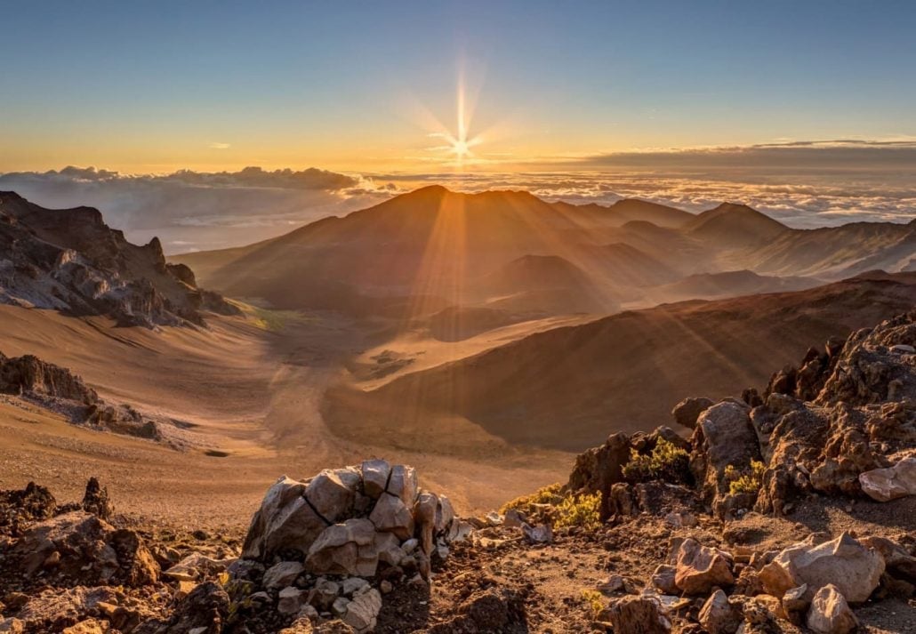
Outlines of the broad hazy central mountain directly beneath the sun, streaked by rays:
M 173 259 L 199 269 L 226 294 L 281 307 L 337 307 L 344 303 L 338 298 L 360 296 L 427 295 L 453 303 L 463 300 L 463 289 L 479 295 L 470 280 L 521 257 L 589 266 L 585 247 L 594 246 L 593 227 L 605 212 L 565 213 L 520 191 L 463 194 L 432 186 L 259 245 Z

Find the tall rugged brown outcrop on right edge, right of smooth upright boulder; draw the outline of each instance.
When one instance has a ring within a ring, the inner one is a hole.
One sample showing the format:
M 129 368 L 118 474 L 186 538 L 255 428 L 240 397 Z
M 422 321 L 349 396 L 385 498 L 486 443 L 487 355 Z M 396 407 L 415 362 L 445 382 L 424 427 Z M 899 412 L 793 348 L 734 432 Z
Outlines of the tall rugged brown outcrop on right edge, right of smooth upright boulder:
M 758 510 L 780 513 L 815 491 L 876 499 L 911 495 L 914 319 L 916 313 L 900 315 L 853 333 L 838 351 L 830 348 L 815 399 L 781 394 L 775 391 L 779 381 L 770 382 L 766 403 L 751 413 L 769 463 Z

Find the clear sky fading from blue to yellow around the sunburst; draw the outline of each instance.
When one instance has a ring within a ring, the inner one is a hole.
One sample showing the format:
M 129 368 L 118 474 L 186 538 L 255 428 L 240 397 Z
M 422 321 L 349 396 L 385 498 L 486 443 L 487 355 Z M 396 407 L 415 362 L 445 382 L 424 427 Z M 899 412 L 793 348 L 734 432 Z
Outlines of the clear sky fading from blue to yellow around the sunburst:
M 0 10 L 0 171 L 428 170 L 453 158 L 430 134 L 436 125 L 456 134 L 459 67 L 476 105 L 466 117 L 480 140 L 475 169 L 646 148 L 916 138 L 909 2 Z

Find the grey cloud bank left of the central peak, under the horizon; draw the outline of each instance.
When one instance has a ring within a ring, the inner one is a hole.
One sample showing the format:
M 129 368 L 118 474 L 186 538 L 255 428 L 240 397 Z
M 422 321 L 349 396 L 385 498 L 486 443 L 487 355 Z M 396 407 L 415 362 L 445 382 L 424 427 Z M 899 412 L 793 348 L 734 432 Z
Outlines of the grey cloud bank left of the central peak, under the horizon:
M 157 235 L 169 253 L 250 244 L 391 195 L 362 176 L 256 167 L 166 175 L 68 167 L 0 174 L 0 189 L 46 207 L 97 207 L 128 239 Z

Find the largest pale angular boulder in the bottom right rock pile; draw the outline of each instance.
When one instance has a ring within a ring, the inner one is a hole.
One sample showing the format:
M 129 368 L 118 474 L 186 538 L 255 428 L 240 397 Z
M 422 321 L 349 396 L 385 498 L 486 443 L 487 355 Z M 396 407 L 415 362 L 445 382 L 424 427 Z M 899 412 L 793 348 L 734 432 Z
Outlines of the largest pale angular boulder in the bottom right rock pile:
M 824 585 L 834 584 L 847 601 L 862 603 L 878 587 L 884 567 L 878 552 L 843 533 L 833 541 L 787 548 L 761 569 L 760 579 L 773 596 L 807 585 L 802 599 L 810 601 Z

